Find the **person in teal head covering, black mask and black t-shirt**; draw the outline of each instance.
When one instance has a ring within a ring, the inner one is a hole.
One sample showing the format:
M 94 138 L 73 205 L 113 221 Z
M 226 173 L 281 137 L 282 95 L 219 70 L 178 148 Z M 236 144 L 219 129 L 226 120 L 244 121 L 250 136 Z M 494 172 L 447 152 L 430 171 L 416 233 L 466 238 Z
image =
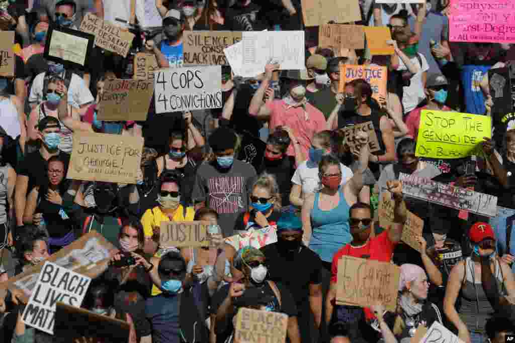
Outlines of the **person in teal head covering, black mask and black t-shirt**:
M 322 319 L 322 268 L 320 258 L 302 244 L 302 222 L 291 212 L 281 214 L 277 222 L 277 243 L 261 248 L 268 261 L 268 278 L 287 285 L 297 305 L 301 341 L 312 342 L 314 315 L 318 329 Z

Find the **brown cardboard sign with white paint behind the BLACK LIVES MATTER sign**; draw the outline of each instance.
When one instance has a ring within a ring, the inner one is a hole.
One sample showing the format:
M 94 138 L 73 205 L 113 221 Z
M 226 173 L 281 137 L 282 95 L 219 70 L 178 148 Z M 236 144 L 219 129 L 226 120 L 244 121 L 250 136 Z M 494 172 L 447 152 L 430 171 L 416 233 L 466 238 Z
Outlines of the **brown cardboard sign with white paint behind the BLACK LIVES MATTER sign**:
M 115 247 L 104 236 L 93 230 L 52 254 L 46 261 L 94 279 L 106 270 L 111 259 L 109 251 L 112 249 Z M 43 263 L 39 263 L 26 268 L 23 273 L 0 283 L 0 289 L 23 291 L 25 296 L 22 300 L 26 303 L 36 286 L 42 267 Z

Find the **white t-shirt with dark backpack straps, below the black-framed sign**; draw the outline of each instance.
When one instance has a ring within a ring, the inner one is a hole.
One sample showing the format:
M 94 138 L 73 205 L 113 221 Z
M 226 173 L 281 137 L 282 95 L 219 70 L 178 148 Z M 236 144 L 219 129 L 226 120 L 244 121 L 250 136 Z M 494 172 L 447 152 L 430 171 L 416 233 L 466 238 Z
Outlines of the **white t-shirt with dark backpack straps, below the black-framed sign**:
M 63 73 L 64 74 L 64 73 Z M 43 101 L 43 82 L 45 73 L 38 74 L 32 82 L 30 88 L 29 103 L 40 104 Z M 93 102 L 95 98 L 91 94 L 84 80 L 77 74 L 72 74 L 70 79 L 70 87 L 68 88 L 68 103 L 77 109 L 81 105 Z

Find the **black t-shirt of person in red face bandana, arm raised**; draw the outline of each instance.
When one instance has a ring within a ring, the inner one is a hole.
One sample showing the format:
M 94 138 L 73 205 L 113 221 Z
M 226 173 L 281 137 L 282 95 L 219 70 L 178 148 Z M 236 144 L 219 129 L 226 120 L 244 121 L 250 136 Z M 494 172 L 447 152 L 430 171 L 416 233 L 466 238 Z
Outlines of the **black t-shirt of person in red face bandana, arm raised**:
M 267 172 L 276 177 L 277 184 L 279 185 L 279 193 L 281 193 L 281 206 L 288 206 L 289 193 L 291 192 L 291 178 L 295 173 L 295 157 L 285 156 L 279 161 L 270 161 L 265 157 L 257 172 L 258 175 Z

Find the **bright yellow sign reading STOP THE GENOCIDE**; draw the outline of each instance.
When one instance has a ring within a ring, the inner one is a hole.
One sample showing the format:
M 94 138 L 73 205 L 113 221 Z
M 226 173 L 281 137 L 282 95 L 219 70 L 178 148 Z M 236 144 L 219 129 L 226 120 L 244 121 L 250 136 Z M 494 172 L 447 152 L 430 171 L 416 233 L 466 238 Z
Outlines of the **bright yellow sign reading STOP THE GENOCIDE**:
M 431 158 L 476 155 L 483 137 L 491 137 L 491 121 L 484 115 L 422 110 L 416 155 Z

